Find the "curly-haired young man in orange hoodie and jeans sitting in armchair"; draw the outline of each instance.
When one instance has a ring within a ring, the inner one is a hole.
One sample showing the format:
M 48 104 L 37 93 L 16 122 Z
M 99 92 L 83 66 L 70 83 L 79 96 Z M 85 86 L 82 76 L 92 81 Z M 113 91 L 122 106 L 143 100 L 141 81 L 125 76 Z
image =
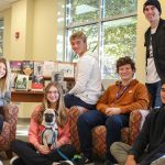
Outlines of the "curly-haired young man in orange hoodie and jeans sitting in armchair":
M 97 110 L 81 114 L 77 121 L 78 135 L 85 164 L 92 162 L 91 130 L 98 125 L 107 129 L 107 161 L 114 163 L 110 145 L 121 140 L 121 129 L 129 125 L 130 112 L 147 109 L 148 96 L 144 85 L 133 79 L 135 65 L 130 57 L 117 61 L 117 73 L 121 80 L 111 85 L 97 102 Z

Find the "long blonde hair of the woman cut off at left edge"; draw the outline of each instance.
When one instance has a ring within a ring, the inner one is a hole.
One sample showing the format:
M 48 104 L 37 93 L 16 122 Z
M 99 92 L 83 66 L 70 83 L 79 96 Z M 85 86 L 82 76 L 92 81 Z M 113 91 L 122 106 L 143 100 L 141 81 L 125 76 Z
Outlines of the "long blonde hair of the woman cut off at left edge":
M 3 63 L 6 65 L 6 75 L 0 78 L 0 91 L 2 95 L 4 95 L 4 92 L 9 91 L 10 88 L 10 67 L 9 63 L 3 57 L 0 57 L 0 63 Z

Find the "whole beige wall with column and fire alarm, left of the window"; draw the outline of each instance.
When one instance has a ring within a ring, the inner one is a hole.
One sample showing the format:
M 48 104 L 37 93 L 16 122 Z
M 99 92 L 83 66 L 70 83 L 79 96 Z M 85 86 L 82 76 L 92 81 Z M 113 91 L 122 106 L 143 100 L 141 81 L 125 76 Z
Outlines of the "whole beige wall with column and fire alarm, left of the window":
M 56 59 L 57 0 L 19 0 L 4 18 L 4 56 L 9 59 Z M 15 32 L 20 37 L 15 38 Z M 7 48 L 8 47 L 8 48 Z

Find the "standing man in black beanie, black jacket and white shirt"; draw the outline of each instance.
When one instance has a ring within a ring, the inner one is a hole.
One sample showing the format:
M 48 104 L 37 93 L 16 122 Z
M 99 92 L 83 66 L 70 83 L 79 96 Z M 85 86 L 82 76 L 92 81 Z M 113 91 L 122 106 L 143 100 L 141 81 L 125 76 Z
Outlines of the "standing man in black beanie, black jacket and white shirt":
M 145 32 L 146 47 L 146 87 L 151 95 L 152 108 L 158 108 L 161 102 L 161 80 L 165 79 L 165 20 L 161 19 L 158 0 L 147 0 L 143 12 L 150 22 Z

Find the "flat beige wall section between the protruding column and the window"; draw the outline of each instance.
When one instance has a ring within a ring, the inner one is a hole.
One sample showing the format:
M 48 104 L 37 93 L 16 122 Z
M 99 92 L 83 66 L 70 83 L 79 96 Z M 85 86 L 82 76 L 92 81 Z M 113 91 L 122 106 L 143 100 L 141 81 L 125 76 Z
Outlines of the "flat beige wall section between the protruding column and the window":
M 33 31 L 33 58 L 56 58 L 56 1 L 35 0 L 34 2 L 34 31 Z

